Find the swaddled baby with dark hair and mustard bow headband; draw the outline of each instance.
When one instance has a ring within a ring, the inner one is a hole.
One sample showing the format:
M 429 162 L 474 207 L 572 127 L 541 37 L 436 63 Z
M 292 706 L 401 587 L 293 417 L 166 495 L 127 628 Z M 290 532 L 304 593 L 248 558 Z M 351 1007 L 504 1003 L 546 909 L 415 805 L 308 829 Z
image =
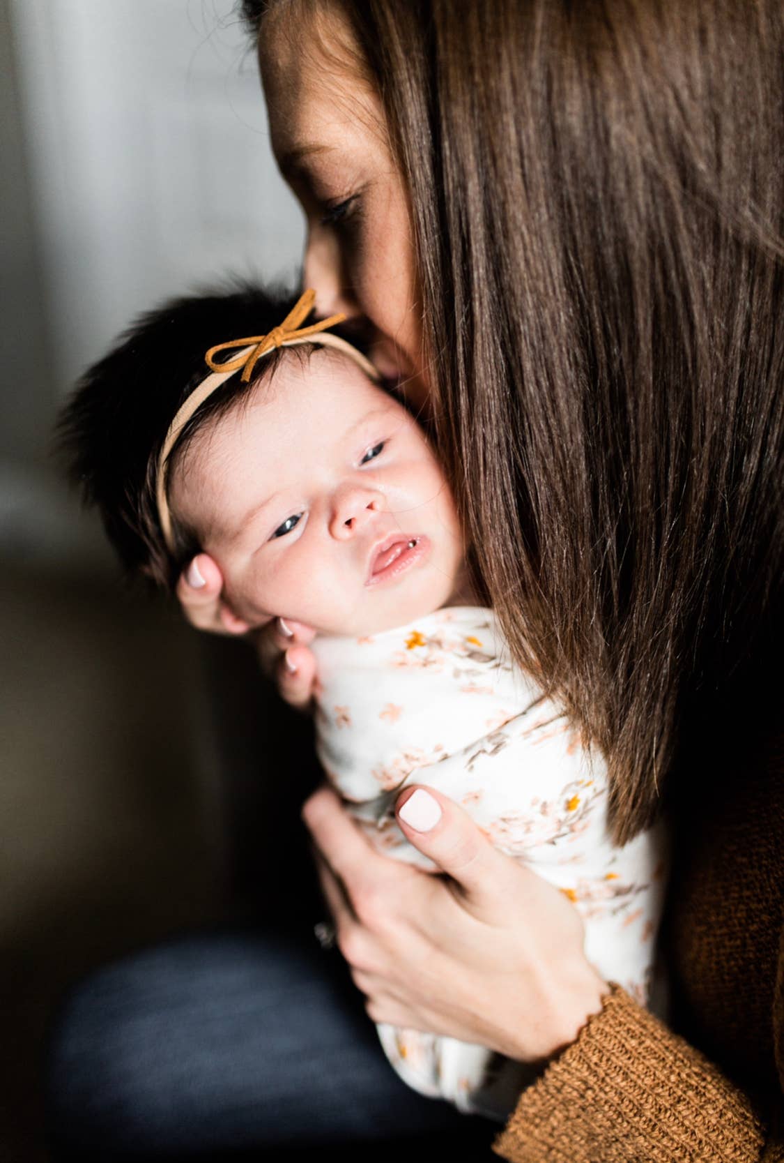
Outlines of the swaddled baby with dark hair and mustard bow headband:
M 318 632 L 319 758 L 376 847 L 427 866 L 394 802 L 407 783 L 440 789 L 574 901 L 589 959 L 645 1000 L 659 834 L 611 844 L 604 761 L 472 604 L 425 434 L 325 330 L 337 320 L 302 327 L 311 302 L 247 287 L 144 316 L 63 414 L 72 472 L 130 572 L 171 590 L 208 552 L 238 618 Z M 221 342 L 232 335 L 254 337 Z M 531 1078 L 482 1047 L 379 1034 L 410 1085 L 463 1111 L 503 1118 Z

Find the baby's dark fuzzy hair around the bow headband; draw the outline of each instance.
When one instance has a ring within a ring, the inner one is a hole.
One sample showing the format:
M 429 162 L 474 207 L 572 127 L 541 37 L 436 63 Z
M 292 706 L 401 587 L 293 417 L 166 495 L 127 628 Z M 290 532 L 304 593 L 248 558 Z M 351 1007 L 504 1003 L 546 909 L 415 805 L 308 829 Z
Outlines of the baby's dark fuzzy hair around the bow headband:
M 171 299 L 141 315 L 77 384 L 59 416 L 58 449 L 85 504 L 100 512 L 128 576 L 144 575 L 171 592 L 182 566 L 200 549 L 194 530 L 174 515 L 174 549 L 167 549 L 156 480 L 174 414 L 209 374 L 204 352 L 232 338 L 267 334 L 295 302 L 289 293 L 236 283 L 228 290 Z M 242 383 L 239 372 L 232 376 L 186 424 L 170 464 L 210 419 L 273 376 L 281 359 L 302 358 L 310 350 L 303 344 L 272 351 L 257 365 L 250 384 Z

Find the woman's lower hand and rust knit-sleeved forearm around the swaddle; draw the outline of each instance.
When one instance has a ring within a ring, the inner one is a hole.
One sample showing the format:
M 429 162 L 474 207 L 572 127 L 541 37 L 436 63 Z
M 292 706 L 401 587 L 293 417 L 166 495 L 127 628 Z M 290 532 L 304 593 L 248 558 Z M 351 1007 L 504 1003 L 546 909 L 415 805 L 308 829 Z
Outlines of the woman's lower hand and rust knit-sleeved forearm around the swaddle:
M 432 790 L 424 799 L 407 790 L 397 812 L 407 837 L 447 877 L 376 854 L 329 790 L 304 806 L 338 943 L 375 1021 L 551 1059 L 498 1139 L 501 1155 L 515 1163 L 784 1158 L 778 1141 L 765 1147 L 742 1091 L 600 980 L 583 956 L 578 914 L 558 890 L 494 849 Z

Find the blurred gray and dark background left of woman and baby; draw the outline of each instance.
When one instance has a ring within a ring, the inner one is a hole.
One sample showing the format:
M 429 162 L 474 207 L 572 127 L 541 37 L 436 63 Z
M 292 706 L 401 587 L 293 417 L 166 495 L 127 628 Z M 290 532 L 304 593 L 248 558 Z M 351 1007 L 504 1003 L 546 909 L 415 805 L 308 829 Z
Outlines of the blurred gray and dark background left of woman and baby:
M 250 649 L 123 590 L 50 448 L 74 379 L 137 312 L 229 271 L 296 277 L 302 222 L 233 7 L 0 0 L 3 1161 L 48 1158 L 39 1062 L 63 987 L 230 908 L 224 780 L 253 780 L 268 714 L 233 698 Z

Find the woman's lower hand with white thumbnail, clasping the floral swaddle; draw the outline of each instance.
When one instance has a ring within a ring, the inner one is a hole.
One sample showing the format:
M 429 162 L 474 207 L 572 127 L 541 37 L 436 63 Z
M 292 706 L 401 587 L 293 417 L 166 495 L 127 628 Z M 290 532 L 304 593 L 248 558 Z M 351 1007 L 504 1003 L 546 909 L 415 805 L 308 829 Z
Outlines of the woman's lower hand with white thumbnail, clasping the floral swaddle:
M 446 877 L 376 852 L 331 789 L 302 814 L 338 947 L 374 1021 L 538 1063 L 602 1008 L 609 986 L 584 957 L 577 909 L 445 795 L 407 789 L 397 819 Z

